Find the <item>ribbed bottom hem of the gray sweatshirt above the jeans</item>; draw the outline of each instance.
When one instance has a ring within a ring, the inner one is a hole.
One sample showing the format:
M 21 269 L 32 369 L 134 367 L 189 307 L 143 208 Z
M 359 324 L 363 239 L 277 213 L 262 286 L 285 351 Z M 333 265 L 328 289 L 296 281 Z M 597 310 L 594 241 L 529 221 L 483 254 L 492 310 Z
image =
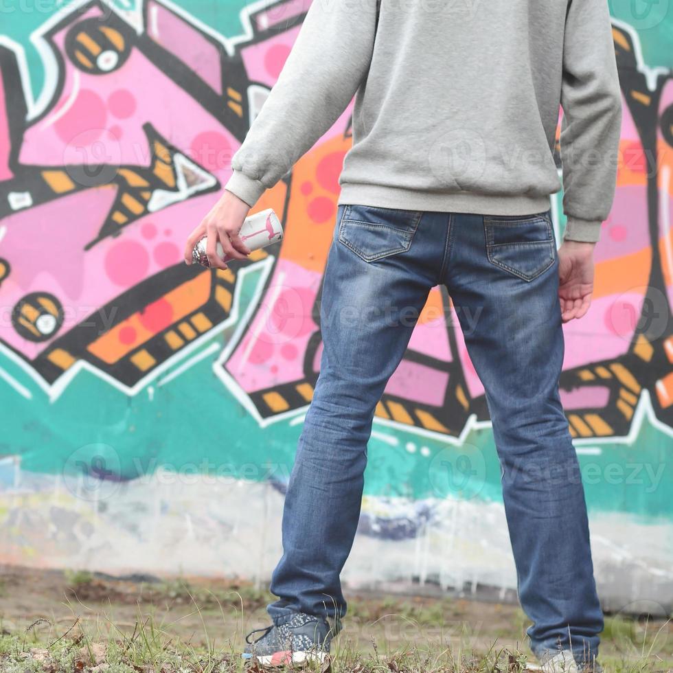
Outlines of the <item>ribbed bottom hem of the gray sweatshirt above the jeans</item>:
M 440 193 L 356 183 L 343 183 L 336 203 L 479 215 L 530 215 L 551 207 L 549 195 Z

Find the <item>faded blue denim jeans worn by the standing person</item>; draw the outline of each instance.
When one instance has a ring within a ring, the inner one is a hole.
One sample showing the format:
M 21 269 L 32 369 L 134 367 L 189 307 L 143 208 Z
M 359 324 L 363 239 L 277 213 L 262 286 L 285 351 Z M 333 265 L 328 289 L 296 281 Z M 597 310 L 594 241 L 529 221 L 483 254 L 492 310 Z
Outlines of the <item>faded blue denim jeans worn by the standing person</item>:
M 597 656 L 603 615 L 558 394 L 564 340 L 550 212 L 339 205 L 323 282 L 321 369 L 288 483 L 273 621 L 345 615 L 339 573 L 358 526 L 376 403 L 414 316 L 444 284 L 486 390 L 531 648 L 541 658 L 572 649 L 578 663 Z

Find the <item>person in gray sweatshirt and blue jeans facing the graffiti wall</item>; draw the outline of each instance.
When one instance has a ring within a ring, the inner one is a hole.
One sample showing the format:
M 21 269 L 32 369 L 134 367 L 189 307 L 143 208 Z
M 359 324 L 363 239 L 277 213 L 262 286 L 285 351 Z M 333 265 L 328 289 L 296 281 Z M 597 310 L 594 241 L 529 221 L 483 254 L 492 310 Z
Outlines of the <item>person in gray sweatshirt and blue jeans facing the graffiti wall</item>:
M 278 600 L 242 654 L 273 665 L 329 652 L 376 405 L 409 343 L 409 315 L 443 284 L 486 391 L 532 652 L 548 672 L 600 670 L 603 615 L 558 378 L 562 324 L 589 309 L 615 192 L 621 93 L 606 0 L 313 0 L 185 262 L 204 235 L 214 268 L 226 268 L 217 240 L 244 259 L 249 209 L 353 97 L 320 372 L 271 577 Z M 561 187 L 558 246 L 550 195 Z

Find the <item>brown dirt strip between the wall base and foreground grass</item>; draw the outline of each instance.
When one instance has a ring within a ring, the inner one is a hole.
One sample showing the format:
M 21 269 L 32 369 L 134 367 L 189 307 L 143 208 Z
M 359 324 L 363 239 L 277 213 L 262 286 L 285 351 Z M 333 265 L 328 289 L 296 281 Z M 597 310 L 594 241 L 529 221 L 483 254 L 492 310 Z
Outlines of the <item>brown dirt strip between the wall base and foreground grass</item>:
M 365 593 L 346 597 L 347 619 L 337 640 L 347 650 L 380 657 L 405 648 L 488 652 L 496 647 L 529 655 L 528 621 L 515 605 Z M 264 608 L 271 600 L 266 591 L 232 580 L 122 580 L 0 566 L 0 631 L 33 645 L 76 633 L 92 641 L 131 639 L 150 624 L 167 643 L 238 652 L 250 630 L 269 624 Z M 663 619 L 608 617 L 602 652 L 629 661 L 648 654 L 654 665 L 647 670 L 671 670 L 672 643 L 671 624 Z

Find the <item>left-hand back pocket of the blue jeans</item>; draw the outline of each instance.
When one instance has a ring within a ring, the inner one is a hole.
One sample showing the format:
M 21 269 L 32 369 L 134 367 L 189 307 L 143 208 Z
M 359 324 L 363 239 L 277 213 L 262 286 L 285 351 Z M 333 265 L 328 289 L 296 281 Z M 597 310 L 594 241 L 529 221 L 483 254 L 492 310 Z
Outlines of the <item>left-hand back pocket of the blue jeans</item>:
M 407 252 L 422 214 L 420 210 L 346 205 L 339 222 L 339 242 L 365 262 Z

